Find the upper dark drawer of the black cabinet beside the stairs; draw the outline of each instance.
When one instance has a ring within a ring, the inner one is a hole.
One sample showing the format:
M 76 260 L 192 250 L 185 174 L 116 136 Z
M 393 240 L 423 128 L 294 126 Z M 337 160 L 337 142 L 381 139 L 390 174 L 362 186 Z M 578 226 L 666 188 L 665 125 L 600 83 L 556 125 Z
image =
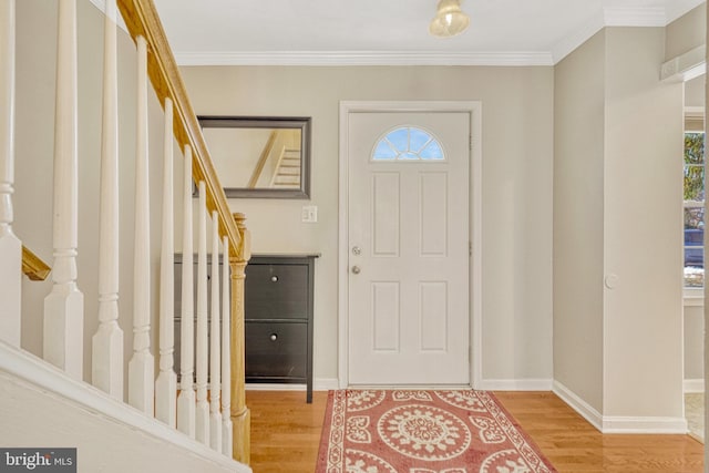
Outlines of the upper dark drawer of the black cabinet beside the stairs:
M 249 264 L 245 281 L 246 319 L 307 319 L 308 266 Z

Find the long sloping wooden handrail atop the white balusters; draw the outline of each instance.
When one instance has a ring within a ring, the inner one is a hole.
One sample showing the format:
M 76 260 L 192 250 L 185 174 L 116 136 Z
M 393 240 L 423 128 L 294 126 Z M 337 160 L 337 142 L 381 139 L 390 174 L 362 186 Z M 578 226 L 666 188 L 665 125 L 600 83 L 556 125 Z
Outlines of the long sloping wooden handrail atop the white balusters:
M 165 106 L 165 97 L 174 103 L 174 134 L 181 148 L 189 145 L 193 151 L 193 176 L 204 181 L 207 209 L 219 215 L 219 235 L 229 239 L 229 256 L 243 258 L 242 236 L 232 217 L 224 188 L 219 184 L 207 145 L 194 113 L 177 63 L 152 0 L 117 0 L 123 20 L 133 38 L 143 37 L 147 41 L 147 73 L 153 89 Z

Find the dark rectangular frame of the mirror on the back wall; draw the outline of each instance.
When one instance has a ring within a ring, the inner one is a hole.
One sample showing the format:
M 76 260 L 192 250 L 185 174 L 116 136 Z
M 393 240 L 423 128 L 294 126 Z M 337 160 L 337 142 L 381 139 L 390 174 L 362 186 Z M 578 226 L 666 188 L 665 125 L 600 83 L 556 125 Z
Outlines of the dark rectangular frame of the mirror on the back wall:
M 224 187 L 227 198 L 310 198 L 310 127 L 309 116 L 216 116 L 198 115 L 202 128 L 298 128 L 300 130 L 300 187 L 248 188 Z M 206 138 L 205 138 L 206 142 Z M 209 143 L 207 143 L 209 147 Z M 213 158 L 214 161 L 214 158 Z M 215 166 L 216 167 L 216 166 Z M 218 173 L 218 172 L 217 172 Z

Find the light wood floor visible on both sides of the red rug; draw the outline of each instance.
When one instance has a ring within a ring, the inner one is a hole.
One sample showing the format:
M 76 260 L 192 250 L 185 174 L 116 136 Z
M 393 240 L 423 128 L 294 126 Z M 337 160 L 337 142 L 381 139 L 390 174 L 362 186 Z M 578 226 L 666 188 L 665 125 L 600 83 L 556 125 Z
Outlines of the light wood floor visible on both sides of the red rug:
M 602 435 L 548 392 L 495 392 L 559 472 L 702 473 L 703 445 L 689 435 Z M 255 473 L 312 473 L 327 392 L 247 391 Z

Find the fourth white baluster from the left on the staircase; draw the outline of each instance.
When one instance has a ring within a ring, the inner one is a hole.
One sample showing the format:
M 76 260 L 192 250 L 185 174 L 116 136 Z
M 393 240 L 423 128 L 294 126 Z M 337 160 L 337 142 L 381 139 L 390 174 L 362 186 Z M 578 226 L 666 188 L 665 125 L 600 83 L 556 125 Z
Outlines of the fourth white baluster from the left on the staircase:
M 147 157 L 147 43 L 137 37 L 135 151 L 135 241 L 133 274 L 133 358 L 129 363 L 129 403 L 154 412 L 155 367 L 151 353 L 150 186 Z

